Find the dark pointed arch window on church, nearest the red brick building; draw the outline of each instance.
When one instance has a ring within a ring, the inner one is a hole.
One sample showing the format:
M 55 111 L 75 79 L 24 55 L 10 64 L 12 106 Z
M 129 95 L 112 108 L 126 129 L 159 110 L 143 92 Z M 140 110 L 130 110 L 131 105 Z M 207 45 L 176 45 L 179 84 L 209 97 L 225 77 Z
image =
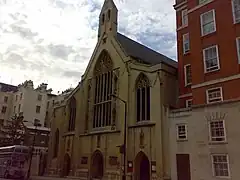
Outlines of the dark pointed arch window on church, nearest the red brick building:
M 141 73 L 136 81 L 137 122 L 150 120 L 150 83 Z

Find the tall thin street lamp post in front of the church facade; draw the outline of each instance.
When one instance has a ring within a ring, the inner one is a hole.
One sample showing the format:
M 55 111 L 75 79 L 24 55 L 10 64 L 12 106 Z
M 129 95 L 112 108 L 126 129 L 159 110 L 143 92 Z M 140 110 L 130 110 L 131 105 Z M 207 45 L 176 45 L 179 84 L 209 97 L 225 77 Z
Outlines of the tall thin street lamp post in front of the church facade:
M 111 96 L 119 99 L 121 102 L 124 103 L 124 131 L 123 131 L 124 140 L 123 140 L 123 176 L 122 176 L 122 180 L 126 180 L 127 102 L 125 100 L 123 100 L 122 98 L 116 96 L 115 94 L 111 94 Z

